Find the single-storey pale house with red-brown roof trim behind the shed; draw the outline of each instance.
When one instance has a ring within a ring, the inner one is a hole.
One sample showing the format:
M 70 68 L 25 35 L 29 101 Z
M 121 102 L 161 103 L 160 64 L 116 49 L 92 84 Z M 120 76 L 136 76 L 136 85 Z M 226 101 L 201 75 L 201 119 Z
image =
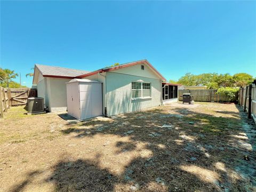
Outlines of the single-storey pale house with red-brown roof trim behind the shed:
M 177 84 L 166 79 L 147 61 L 140 60 L 92 72 L 35 65 L 33 84 L 49 111 L 67 110 L 66 83 L 88 79 L 102 83 L 102 114 L 113 116 L 177 101 Z M 163 97 L 164 94 L 164 97 Z

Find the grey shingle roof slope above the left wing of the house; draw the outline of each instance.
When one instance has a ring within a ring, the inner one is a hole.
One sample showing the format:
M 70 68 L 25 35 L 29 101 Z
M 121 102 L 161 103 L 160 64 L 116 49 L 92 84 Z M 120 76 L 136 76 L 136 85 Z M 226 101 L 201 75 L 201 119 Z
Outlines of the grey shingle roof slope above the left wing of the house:
M 63 67 L 45 66 L 45 65 L 39 65 L 39 64 L 36 64 L 35 66 L 42 73 L 42 75 L 76 77 L 79 75 L 90 73 L 90 71 L 68 69 Z

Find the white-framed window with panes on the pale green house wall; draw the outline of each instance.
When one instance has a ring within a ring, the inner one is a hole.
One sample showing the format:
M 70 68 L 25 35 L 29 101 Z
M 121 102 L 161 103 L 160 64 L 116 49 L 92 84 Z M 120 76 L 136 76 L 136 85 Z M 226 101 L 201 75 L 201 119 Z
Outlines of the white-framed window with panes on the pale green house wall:
M 132 82 L 132 98 L 151 97 L 151 84 Z

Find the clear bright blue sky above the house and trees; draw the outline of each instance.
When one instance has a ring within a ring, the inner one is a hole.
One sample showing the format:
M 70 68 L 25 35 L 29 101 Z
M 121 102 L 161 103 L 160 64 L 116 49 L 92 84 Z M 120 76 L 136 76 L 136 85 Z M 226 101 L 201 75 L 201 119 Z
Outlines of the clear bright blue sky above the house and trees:
M 256 2 L 1 1 L 1 67 L 23 85 L 35 63 L 92 71 L 141 59 L 166 79 L 255 77 Z

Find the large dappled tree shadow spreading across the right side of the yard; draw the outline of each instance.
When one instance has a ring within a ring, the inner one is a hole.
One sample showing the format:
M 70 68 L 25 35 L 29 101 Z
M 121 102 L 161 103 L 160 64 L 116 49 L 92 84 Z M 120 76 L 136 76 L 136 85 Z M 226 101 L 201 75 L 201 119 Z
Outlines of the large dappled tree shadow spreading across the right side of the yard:
M 117 135 L 129 141 L 115 141 L 113 151 L 118 152 L 105 158 L 102 153 L 93 160 L 59 162 L 51 177 L 57 191 L 250 191 L 256 186 L 255 154 L 246 145 L 238 117 L 163 107 L 71 124 L 62 132 L 77 139 Z M 138 143 L 145 145 L 123 172 L 114 174 L 102 166 L 117 154 L 123 161 L 122 154 L 137 150 Z M 142 156 L 142 150 L 150 155 Z

